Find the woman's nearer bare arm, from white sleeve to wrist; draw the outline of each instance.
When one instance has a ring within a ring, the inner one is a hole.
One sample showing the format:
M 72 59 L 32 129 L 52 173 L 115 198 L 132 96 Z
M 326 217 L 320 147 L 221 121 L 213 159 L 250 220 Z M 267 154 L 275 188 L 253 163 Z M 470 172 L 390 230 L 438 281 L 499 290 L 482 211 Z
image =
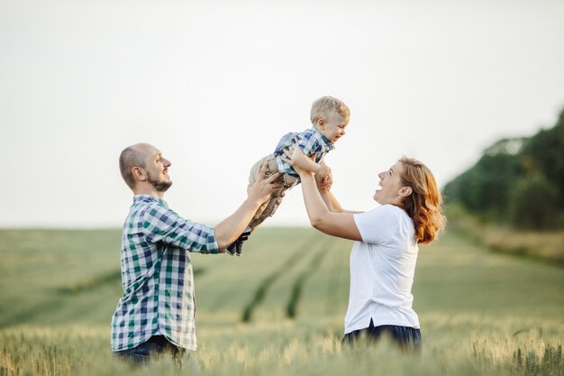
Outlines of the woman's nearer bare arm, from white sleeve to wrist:
M 319 190 L 317 190 L 314 175 L 306 170 L 298 170 L 297 172 L 300 174 L 300 179 L 302 179 L 302 193 L 310 223 L 322 233 L 361 242 L 362 237 L 352 214 L 332 213 L 329 207 L 325 205 L 325 202 L 323 202 Z M 332 198 L 334 198 L 332 194 L 328 195 L 330 202 L 332 202 Z M 341 206 L 336 199 L 332 202 L 332 205 L 334 203 L 338 207 Z

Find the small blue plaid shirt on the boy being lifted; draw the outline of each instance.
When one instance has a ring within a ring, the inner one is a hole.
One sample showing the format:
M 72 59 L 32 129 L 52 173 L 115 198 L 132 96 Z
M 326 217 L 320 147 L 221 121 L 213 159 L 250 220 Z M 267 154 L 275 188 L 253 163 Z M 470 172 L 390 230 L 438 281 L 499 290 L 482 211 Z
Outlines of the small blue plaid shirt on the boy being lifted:
M 290 166 L 280 157 L 286 156 L 283 149 L 289 146 L 294 146 L 304 151 L 304 154 L 308 157 L 317 153 L 315 157 L 315 163 L 320 164 L 323 161 L 323 157 L 329 151 L 332 151 L 335 147 L 322 133 L 320 133 L 315 127 L 306 129 L 304 132 L 290 132 L 282 136 L 277 144 L 276 150 L 274 151 L 274 156 L 277 161 L 278 171 L 281 173 L 286 173 L 290 176 L 299 179 L 299 175 L 292 166 Z

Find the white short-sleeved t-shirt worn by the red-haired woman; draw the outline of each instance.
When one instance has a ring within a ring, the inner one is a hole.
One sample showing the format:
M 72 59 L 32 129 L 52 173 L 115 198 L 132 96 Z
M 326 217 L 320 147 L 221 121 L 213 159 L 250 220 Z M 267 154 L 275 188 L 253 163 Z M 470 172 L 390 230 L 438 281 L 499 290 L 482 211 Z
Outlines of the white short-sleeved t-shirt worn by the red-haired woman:
M 374 326 L 419 328 L 412 303 L 417 243 L 413 220 L 393 205 L 354 215 L 362 242 L 350 252 L 345 334 Z

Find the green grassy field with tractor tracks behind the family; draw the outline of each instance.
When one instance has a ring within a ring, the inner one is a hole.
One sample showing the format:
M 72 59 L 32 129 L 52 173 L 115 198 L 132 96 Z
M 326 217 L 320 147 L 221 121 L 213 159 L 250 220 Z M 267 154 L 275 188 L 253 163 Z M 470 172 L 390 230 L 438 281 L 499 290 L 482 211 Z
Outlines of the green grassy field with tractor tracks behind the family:
M 0 376 L 165 375 L 114 361 L 118 230 L 0 231 Z M 488 252 L 447 233 L 420 247 L 421 357 L 341 348 L 351 243 L 261 228 L 244 256 L 193 257 L 196 356 L 204 375 L 562 375 L 564 269 Z

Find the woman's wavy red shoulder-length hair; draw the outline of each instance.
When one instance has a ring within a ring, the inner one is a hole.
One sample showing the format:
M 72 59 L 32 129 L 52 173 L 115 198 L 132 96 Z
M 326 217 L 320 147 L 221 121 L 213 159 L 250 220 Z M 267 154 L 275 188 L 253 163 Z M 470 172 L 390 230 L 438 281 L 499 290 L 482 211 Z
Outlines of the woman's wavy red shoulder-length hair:
M 404 198 L 402 208 L 414 220 L 417 243 L 431 243 L 446 223 L 441 191 L 431 170 L 421 161 L 404 157 L 399 162 L 404 170 L 402 184 L 412 188 L 412 194 Z

